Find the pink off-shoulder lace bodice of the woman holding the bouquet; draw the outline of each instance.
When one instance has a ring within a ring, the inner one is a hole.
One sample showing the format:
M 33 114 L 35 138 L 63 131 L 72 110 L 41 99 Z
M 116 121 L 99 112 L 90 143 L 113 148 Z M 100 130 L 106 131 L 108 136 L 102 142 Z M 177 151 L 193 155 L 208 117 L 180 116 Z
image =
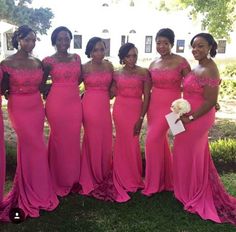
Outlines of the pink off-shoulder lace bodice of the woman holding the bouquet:
M 184 95 L 191 96 L 203 96 L 203 87 L 208 86 L 218 86 L 220 84 L 219 78 L 212 77 L 199 77 L 193 72 L 190 72 L 185 78 L 183 82 Z

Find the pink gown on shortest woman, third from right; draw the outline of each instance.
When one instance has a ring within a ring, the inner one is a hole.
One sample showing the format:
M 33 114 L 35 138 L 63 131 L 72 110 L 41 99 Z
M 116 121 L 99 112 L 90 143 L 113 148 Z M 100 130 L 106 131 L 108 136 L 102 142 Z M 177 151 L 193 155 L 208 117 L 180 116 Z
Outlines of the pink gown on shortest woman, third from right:
M 134 125 L 142 109 L 144 82 L 148 79 L 138 75 L 116 74 L 117 94 L 113 108 L 116 129 L 114 145 L 114 180 L 127 192 L 143 188 L 142 159 L 139 137 L 133 135 Z

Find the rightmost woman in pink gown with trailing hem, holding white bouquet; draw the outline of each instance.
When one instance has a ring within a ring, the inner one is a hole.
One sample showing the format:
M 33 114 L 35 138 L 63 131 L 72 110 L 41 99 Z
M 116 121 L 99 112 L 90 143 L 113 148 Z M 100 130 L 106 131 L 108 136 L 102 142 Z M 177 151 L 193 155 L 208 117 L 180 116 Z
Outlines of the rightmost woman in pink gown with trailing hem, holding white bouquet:
M 198 65 L 183 83 L 191 112 L 180 117 L 186 131 L 174 140 L 174 193 L 185 210 L 205 220 L 236 225 L 236 198 L 224 189 L 208 144 L 220 84 L 217 66 L 208 56 L 216 55 L 217 44 L 210 34 L 200 33 L 191 46 Z

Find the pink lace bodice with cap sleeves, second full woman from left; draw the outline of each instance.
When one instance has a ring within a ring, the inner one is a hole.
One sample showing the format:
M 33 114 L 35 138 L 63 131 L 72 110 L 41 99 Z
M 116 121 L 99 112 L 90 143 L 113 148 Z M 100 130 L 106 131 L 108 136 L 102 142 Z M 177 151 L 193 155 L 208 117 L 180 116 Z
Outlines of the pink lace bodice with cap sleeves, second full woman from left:
M 50 76 L 53 83 L 78 84 L 81 73 L 81 61 L 79 55 L 71 62 L 59 62 L 54 57 L 43 59 L 44 66 L 50 67 Z

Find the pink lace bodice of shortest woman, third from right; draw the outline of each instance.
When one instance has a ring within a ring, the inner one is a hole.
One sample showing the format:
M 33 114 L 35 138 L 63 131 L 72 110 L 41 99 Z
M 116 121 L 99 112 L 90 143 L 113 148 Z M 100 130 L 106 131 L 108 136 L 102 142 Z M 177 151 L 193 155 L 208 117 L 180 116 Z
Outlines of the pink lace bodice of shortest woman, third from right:
M 114 75 L 116 82 L 116 96 L 140 98 L 143 94 L 145 81 L 150 81 L 147 76 L 141 75 L 124 75 L 116 73 Z

